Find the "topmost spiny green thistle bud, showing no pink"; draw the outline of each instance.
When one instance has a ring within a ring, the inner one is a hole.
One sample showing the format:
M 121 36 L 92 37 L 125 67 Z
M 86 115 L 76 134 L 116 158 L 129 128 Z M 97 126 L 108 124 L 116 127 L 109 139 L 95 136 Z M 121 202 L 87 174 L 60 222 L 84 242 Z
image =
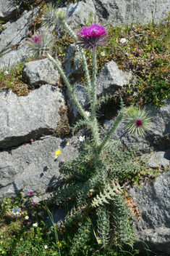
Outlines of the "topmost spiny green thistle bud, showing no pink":
M 46 26 L 51 26 L 55 23 L 62 24 L 66 20 L 66 15 L 63 12 L 59 12 L 57 7 L 54 7 L 53 4 L 48 4 L 43 9 L 41 23 Z

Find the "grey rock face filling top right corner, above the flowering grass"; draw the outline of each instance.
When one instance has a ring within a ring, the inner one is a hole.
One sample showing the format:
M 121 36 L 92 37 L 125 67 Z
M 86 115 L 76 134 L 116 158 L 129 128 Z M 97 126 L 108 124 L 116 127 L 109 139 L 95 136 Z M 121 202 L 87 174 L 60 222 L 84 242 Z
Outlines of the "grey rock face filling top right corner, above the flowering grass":
M 158 22 L 170 11 L 169 0 L 94 0 L 94 4 L 99 20 L 110 20 L 114 25 Z

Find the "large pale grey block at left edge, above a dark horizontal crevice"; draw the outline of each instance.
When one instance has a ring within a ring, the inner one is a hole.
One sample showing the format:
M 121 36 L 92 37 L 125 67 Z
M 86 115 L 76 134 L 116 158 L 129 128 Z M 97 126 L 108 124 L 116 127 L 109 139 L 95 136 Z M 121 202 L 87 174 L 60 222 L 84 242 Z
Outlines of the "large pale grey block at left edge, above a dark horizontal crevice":
M 59 88 L 43 85 L 27 96 L 0 92 L 0 149 L 49 135 L 60 119 L 64 95 Z

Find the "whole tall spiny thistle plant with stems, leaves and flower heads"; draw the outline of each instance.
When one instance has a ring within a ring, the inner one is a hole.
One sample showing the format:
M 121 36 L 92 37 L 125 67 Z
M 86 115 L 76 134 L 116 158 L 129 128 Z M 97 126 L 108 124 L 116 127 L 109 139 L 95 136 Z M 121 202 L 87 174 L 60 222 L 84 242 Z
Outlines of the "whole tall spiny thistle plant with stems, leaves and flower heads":
M 42 23 L 43 25 L 59 23 L 67 30 L 72 38 L 75 39 L 76 44 L 80 47 L 86 76 L 86 84 L 80 86 L 84 87 L 87 91 L 90 103 L 89 111 L 85 111 L 77 99 L 76 88 L 73 87 L 69 79 L 67 79 L 58 57 L 56 56 L 54 58 L 50 55 L 51 38 L 46 36 L 45 40 L 43 35 L 34 36 L 29 43 L 30 50 L 35 56 L 44 55 L 48 57 L 55 68 L 58 69 L 64 84 L 67 86 L 70 95 L 72 95 L 72 100 L 75 102 L 82 116 L 82 119 L 75 124 L 75 129 L 85 125 L 92 132 L 91 138 L 85 138 L 85 136 L 80 137 L 80 143 L 82 143 L 80 155 L 76 159 L 68 161 L 61 166 L 60 172 L 68 177 L 69 183 L 59 188 L 59 192 L 54 195 L 56 204 L 66 203 L 68 202 L 68 198 L 70 201 L 74 201 L 78 209 L 81 209 L 80 212 L 82 212 L 83 218 L 89 218 L 87 212 L 93 209 L 93 217 L 90 218 L 90 224 L 85 222 L 86 228 L 81 225 L 77 235 L 75 234 L 72 241 L 71 252 L 76 252 L 76 248 L 80 249 L 81 244 L 85 246 L 85 244 L 80 241 L 88 242 L 92 230 L 96 233 L 95 238 L 100 238 L 97 239 L 98 241 L 100 240 L 98 244 L 105 249 L 109 246 L 109 239 L 111 239 L 111 243 L 114 244 L 114 236 L 117 236 L 116 241 L 119 246 L 126 243 L 132 245 L 134 241 L 132 220 L 129 208 L 124 201 L 122 188 L 119 186 L 118 181 L 123 177 L 122 173 L 126 172 L 126 167 L 124 168 L 126 159 L 126 164 L 129 164 L 129 172 L 137 172 L 140 167 L 138 169 L 135 167 L 135 164 L 132 163 L 132 157 L 129 157 L 129 154 L 127 154 L 127 156 L 122 155 L 121 142 L 119 140 L 110 140 L 110 138 L 123 119 L 125 119 L 127 131 L 131 133 L 135 132 L 136 135 L 143 135 L 145 129 L 149 129 L 150 117 L 145 113 L 145 110 L 136 109 L 135 107 L 124 108 L 124 104 L 121 100 L 121 109 L 115 118 L 113 127 L 111 127 L 108 132 L 105 131 L 105 136 L 102 140 L 102 127 L 98 124 L 96 112 L 101 103 L 109 99 L 109 96 L 101 97 L 100 99 L 96 96 L 96 48 L 102 47 L 108 43 L 109 37 L 106 28 L 103 25 L 93 24 L 81 28 L 75 33 L 69 25 L 67 25 L 65 15 L 52 7 L 52 5 L 49 5 L 44 10 Z M 92 52 L 92 77 L 90 77 L 88 71 L 84 49 L 88 49 Z M 120 158 L 124 160 L 124 163 L 118 165 L 117 161 Z M 84 212 L 82 209 L 85 209 Z M 97 209 L 97 213 L 95 209 Z M 79 215 L 76 216 L 77 218 L 80 217 Z M 69 220 L 72 220 L 72 217 L 70 217 Z M 80 222 L 82 223 L 81 220 Z M 122 225 L 122 223 L 124 223 L 124 225 Z M 82 233 L 87 227 L 89 232 Z

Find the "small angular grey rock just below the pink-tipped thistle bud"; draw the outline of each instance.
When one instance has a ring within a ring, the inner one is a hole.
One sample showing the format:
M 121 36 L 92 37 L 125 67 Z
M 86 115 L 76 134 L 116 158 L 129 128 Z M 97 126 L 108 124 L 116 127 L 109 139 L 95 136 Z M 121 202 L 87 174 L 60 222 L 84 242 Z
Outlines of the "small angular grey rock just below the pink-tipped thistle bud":
M 39 84 L 58 84 L 59 82 L 59 72 L 48 59 L 25 63 L 24 73 L 30 85 L 34 87 Z

